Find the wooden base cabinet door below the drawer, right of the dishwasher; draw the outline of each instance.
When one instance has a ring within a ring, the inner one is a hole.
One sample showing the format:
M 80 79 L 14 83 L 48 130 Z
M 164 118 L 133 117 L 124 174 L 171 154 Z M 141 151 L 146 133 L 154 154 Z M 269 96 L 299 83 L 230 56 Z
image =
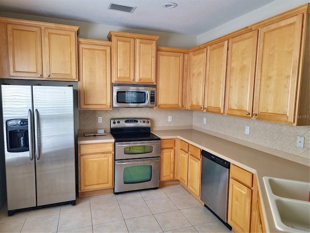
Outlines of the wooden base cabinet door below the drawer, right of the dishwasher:
M 252 190 L 233 179 L 229 182 L 228 223 L 238 232 L 249 232 Z

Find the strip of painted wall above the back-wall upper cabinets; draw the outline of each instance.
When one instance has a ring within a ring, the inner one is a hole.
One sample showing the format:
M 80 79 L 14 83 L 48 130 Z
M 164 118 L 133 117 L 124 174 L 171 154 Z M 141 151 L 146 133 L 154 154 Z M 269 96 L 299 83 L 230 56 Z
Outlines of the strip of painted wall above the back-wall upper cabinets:
M 160 37 L 157 40 L 157 46 L 162 47 L 190 49 L 196 46 L 196 36 L 190 36 L 190 35 L 182 35 L 176 33 L 162 33 L 162 32 L 146 31 L 132 28 L 121 28 L 103 24 L 85 23 L 59 18 L 31 16 L 31 15 L 15 14 L 8 12 L 0 12 L 0 17 L 19 18 L 41 22 L 78 26 L 79 27 L 78 38 L 84 38 L 84 39 L 108 41 L 107 35 L 109 34 L 109 31 L 116 31 L 125 33 L 158 35 Z

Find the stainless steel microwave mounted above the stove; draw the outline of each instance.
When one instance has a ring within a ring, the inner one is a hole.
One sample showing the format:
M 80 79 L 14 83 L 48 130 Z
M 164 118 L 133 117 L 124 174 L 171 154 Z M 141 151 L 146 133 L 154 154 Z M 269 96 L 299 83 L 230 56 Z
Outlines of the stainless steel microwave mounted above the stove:
M 155 107 L 156 86 L 153 84 L 113 83 L 113 107 Z

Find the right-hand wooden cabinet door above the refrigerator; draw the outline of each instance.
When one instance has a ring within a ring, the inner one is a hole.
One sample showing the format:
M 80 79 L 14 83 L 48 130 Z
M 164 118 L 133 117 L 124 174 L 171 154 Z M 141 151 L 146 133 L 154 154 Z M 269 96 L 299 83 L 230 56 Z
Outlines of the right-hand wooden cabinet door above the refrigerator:
M 45 78 L 78 81 L 77 32 L 45 28 L 42 48 Z

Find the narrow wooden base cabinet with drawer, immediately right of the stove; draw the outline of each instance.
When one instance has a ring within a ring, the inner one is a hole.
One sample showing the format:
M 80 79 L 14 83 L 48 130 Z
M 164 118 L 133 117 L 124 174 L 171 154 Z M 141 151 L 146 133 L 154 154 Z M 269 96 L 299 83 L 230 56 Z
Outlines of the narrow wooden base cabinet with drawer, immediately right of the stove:
M 159 181 L 174 180 L 175 139 L 162 139 L 160 149 Z

